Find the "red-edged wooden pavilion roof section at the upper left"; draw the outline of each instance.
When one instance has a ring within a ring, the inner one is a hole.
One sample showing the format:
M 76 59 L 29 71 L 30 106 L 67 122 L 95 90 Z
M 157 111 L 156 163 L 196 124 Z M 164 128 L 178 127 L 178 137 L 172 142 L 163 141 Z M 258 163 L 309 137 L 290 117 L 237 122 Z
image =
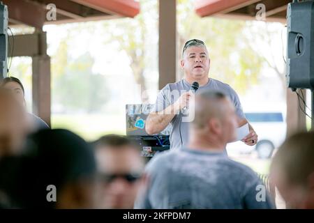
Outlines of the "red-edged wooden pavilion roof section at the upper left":
M 63 24 L 118 17 L 135 17 L 140 3 L 134 0 L 2 0 L 8 6 L 9 25 L 24 24 L 38 29 L 43 24 Z M 48 21 L 47 5 L 56 6 L 57 20 Z

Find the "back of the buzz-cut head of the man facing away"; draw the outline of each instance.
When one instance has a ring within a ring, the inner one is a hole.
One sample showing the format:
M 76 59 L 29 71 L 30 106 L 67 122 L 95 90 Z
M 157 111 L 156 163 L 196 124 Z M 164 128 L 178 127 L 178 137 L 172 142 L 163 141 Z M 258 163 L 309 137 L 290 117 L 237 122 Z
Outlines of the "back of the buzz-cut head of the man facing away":
M 195 95 L 195 118 L 191 127 L 202 130 L 207 127 L 211 118 L 222 119 L 224 117 L 225 102 L 227 96 L 220 91 L 199 91 Z

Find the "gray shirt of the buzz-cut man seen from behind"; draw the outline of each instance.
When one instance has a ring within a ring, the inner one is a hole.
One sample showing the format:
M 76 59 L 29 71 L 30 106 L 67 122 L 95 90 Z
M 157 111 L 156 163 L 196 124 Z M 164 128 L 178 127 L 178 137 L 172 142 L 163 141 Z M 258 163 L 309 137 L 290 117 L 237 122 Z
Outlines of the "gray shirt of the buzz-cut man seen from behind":
M 147 164 L 146 172 L 148 190 L 137 197 L 135 208 L 274 208 L 257 174 L 223 152 L 163 152 Z

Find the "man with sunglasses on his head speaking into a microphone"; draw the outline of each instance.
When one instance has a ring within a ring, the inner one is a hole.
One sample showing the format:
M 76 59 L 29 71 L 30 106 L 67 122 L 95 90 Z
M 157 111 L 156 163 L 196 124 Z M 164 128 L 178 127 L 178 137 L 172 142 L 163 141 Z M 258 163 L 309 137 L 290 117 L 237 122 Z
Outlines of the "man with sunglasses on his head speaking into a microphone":
M 248 123 L 237 93 L 228 84 L 209 77 L 210 59 L 204 42 L 195 39 L 186 42 L 182 52 L 181 68 L 184 69 L 184 79 L 167 84 L 158 94 L 154 112 L 147 117 L 145 130 L 148 134 L 157 134 L 171 123 L 170 148 L 186 146 L 188 122 L 183 121 L 184 113 L 195 91 L 203 89 L 221 91 L 228 95 L 239 116 L 239 127 Z M 242 141 L 253 146 L 257 143 L 257 134 L 250 124 L 248 127 L 249 134 Z

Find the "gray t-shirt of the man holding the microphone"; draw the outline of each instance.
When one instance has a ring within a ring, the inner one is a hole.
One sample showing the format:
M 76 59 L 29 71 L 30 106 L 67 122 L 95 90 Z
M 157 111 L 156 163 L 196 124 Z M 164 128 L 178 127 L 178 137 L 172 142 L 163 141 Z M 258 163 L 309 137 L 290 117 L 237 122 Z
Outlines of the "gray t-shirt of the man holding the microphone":
M 209 82 L 204 86 L 200 86 L 197 91 L 204 89 L 216 90 L 225 93 L 225 95 L 229 96 L 232 101 L 237 115 L 240 118 L 245 118 L 239 97 L 228 84 L 209 78 Z M 181 81 L 173 84 L 167 84 L 158 94 L 154 111 L 163 111 L 166 107 L 176 102 L 179 96 L 186 91 L 190 91 L 190 84 L 188 84 L 185 79 L 181 79 Z M 188 144 L 188 122 L 182 122 L 181 120 L 182 114 L 180 112 L 180 114 L 174 116 L 170 123 L 172 125 L 170 133 L 170 148 L 182 148 L 182 146 L 186 146 Z

